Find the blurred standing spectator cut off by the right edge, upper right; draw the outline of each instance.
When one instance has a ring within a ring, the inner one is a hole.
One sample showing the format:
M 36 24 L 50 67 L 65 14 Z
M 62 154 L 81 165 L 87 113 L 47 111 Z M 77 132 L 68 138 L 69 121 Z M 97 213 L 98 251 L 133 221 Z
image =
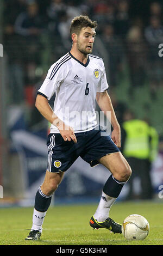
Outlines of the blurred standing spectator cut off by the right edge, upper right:
M 159 44 L 163 42 L 163 26 L 160 18 L 151 16 L 150 25 L 145 28 L 145 38 L 149 48 L 149 81 L 151 83 L 151 92 L 155 93 L 158 87 L 163 86 L 163 59 L 158 55 Z

